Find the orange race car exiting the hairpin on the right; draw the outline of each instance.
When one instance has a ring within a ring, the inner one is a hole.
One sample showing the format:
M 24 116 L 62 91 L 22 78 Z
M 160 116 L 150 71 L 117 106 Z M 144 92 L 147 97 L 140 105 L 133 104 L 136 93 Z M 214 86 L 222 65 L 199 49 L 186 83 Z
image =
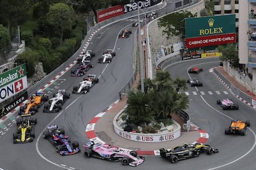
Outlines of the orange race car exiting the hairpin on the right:
M 250 121 L 242 121 L 239 120 L 233 120 L 231 121 L 231 124 L 228 128 L 225 129 L 225 134 L 241 134 L 242 136 L 245 135 L 245 131 L 247 129 L 247 126 L 250 126 Z

